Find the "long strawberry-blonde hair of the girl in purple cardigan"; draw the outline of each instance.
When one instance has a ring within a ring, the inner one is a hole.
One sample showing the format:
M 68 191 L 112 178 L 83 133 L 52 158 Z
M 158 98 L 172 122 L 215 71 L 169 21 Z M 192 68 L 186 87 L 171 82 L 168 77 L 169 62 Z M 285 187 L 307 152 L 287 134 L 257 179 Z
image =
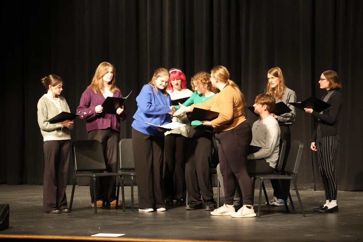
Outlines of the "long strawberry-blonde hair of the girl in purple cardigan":
M 103 93 L 104 88 L 103 88 L 102 77 L 107 73 L 107 71 L 109 70 L 110 67 L 112 68 L 112 71 L 113 71 L 112 80 L 108 84 L 110 93 L 115 93 L 116 91 L 119 91 L 119 89 L 115 83 L 116 82 L 115 81 L 115 77 L 116 77 L 115 67 L 109 62 L 102 62 L 101 64 L 98 65 L 98 67 L 93 75 L 91 84 L 89 85 L 89 87 L 92 88 L 94 93 Z

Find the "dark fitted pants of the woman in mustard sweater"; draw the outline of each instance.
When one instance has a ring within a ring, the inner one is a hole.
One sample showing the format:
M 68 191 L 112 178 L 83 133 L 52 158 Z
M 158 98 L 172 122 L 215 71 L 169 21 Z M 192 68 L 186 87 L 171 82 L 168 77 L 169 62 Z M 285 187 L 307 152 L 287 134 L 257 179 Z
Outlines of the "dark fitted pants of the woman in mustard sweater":
M 218 156 L 224 185 L 224 203 L 233 205 L 236 177 L 241 188 L 244 205 L 252 204 L 252 181 L 247 172 L 248 145 L 252 141 L 252 130 L 246 120 L 232 130 L 215 133 L 219 141 Z

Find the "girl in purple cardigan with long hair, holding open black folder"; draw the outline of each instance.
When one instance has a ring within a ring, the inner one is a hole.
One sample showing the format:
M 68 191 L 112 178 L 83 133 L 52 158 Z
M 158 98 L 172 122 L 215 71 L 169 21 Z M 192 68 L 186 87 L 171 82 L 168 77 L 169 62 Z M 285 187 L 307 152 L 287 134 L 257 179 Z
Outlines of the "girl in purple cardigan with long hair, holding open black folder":
M 126 119 L 124 107 L 115 114 L 103 113 L 102 103 L 107 97 L 122 98 L 120 89 L 115 84 L 115 68 L 109 62 L 98 65 L 91 84 L 83 92 L 77 108 L 79 118 L 86 120 L 88 139 L 98 140 L 103 147 L 107 172 L 117 172 L 117 144 L 120 137 L 120 119 Z M 106 185 L 106 190 L 105 190 Z M 116 177 L 102 177 L 96 180 L 97 208 L 106 202 L 107 206 L 116 206 Z M 93 201 L 93 183 L 90 181 L 91 202 Z M 106 193 L 106 201 L 103 194 Z M 121 202 L 119 202 L 121 205 Z

